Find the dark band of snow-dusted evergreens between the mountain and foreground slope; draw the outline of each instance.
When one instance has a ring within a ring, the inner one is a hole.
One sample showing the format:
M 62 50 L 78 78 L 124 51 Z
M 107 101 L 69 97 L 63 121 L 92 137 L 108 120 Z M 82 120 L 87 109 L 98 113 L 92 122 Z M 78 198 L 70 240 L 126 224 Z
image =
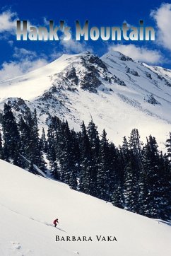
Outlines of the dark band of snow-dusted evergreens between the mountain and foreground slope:
M 48 161 L 52 177 L 73 190 L 137 214 L 170 219 L 171 133 L 165 154 L 151 135 L 143 144 L 138 129 L 132 129 L 129 138 L 124 136 L 122 145 L 116 147 L 105 129 L 99 135 L 93 120 L 88 127 L 82 122 L 81 131 L 75 132 L 67 121 L 51 117 L 47 135 L 42 129 L 39 136 L 36 110 L 17 123 L 6 104 L 1 126 L 1 159 L 32 173 L 37 173 L 34 164 L 46 173 Z

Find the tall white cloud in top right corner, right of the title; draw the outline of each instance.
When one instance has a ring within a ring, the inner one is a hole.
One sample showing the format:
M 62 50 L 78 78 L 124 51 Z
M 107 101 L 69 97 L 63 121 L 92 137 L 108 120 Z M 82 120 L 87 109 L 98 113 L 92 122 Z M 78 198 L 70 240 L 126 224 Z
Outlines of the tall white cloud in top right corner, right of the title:
M 171 50 L 171 4 L 162 4 L 160 8 L 151 11 L 151 17 L 158 27 L 158 43 Z

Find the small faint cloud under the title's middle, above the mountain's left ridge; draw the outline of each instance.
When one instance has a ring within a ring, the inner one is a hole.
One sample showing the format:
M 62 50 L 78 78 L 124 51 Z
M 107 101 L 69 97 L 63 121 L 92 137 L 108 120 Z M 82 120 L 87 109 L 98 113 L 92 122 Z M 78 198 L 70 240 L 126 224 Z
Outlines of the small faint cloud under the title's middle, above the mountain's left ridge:
M 84 51 L 92 52 L 92 49 L 86 45 L 86 42 L 78 42 L 76 40 L 70 39 L 68 41 L 61 40 L 60 44 L 66 53 L 79 53 Z

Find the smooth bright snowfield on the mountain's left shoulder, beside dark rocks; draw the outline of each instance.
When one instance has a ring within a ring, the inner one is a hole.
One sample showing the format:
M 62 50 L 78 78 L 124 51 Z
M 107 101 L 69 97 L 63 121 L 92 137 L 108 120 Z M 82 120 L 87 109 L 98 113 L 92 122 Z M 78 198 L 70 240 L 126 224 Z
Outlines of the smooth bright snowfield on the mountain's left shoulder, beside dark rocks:
M 62 71 L 69 65 L 68 58 L 72 55 L 63 54 L 59 59 L 31 71 L 30 73 L 0 82 L 0 100 L 8 97 L 19 97 L 33 100 L 52 86 L 50 76 Z

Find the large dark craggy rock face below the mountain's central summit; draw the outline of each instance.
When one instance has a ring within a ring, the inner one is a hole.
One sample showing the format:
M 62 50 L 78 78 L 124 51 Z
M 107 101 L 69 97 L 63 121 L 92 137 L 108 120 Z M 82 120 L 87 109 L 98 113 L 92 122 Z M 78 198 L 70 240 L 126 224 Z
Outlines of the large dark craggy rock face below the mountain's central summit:
M 126 86 L 124 81 L 115 75 L 112 76 L 105 62 L 102 62 L 98 56 L 87 52 L 57 74 L 54 86 L 57 90 L 77 91 L 77 88 L 81 88 L 91 93 L 97 93 L 102 81 Z

